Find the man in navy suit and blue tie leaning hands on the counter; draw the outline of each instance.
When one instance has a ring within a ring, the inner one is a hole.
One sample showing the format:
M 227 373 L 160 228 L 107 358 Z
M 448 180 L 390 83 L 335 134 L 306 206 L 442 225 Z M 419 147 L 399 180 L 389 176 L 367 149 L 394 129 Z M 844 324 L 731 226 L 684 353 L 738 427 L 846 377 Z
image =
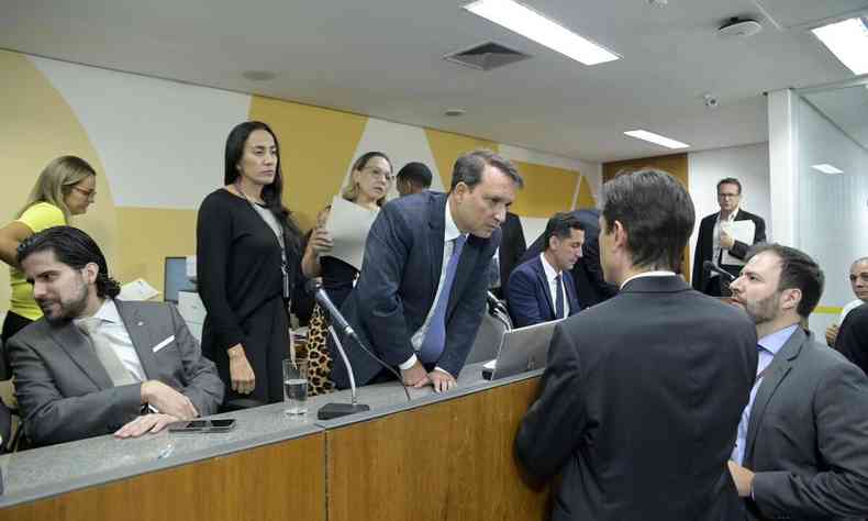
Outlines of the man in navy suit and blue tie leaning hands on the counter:
M 380 210 L 342 311 L 405 385 L 455 387 L 485 312 L 500 225 L 522 185 L 509 160 L 477 151 L 455 162 L 448 195 L 425 191 Z M 342 343 L 358 384 L 387 377 L 354 341 Z M 343 364 L 332 380 L 349 386 Z

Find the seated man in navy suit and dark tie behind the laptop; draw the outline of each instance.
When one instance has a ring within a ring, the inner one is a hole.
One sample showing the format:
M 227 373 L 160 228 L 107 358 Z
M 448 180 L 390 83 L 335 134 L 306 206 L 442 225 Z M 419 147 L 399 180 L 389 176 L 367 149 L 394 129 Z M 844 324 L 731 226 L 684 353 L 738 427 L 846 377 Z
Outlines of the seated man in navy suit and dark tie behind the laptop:
M 569 270 L 581 258 L 585 226 L 571 213 L 556 213 L 543 236 L 547 247 L 510 277 L 507 304 L 516 328 L 574 315 L 581 310 Z

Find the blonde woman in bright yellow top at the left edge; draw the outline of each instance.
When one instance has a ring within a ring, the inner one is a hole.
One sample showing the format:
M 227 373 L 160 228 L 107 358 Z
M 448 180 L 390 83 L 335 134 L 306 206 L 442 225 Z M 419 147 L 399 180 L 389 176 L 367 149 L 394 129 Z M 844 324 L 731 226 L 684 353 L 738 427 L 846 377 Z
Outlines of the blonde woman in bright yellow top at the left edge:
M 45 229 L 68 225 L 73 215 L 87 212 L 97 196 L 96 176 L 93 167 L 80 157 L 54 159 L 40 174 L 15 220 L 0 229 L 0 259 L 9 265 L 12 286 L 12 299 L 3 321 L 3 343 L 42 317 L 42 309 L 33 299 L 33 286 L 15 259 L 18 245 Z

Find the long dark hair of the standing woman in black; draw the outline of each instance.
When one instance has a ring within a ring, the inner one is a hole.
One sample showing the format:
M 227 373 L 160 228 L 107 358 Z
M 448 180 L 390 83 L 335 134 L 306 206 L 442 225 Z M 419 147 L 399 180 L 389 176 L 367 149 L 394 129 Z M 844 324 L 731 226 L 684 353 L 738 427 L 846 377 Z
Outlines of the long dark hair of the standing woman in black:
M 283 174 L 280 171 L 280 144 L 277 141 L 277 135 L 271 131 L 271 128 L 261 121 L 245 121 L 235 125 L 226 137 L 225 164 L 223 174 L 223 184 L 232 185 L 241 176 L 238 171 L 238 163 L 244 155 L 244 145 L 247 143 L 247 137 L 257 130 L 263 130 L 271 134 L 275 140 L 275 147 L 277 148 L 277 168 L 275 169 L 275 180 L 270 185 L 263 187 L 263 201 L 266 208 L 275 215 L 277 222 L 283 229 L 283 236 L 286 237 L 287 254 L 298 254 L 301 243 L 301 230 L 296 220 L 292 219 L 292 213 L 287 207 L 283 206 Z

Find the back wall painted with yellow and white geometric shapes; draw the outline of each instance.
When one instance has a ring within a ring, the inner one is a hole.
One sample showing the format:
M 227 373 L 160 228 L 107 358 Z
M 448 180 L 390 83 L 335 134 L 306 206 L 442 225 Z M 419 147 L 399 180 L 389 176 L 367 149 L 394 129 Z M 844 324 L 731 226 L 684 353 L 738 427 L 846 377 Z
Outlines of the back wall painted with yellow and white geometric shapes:
M 472 136 L 12 52 L 0 51 L 0 74 L 5 87 L 0 99 L 0 121 L 3 121 L 0 126 L 0 171 L 4 181 L 0 191 L 0 225 L 9 222 L 23 204 L 36 176 L 51 159 L 63 154 L 79 155 L 97 169 L 98 197 L 88 214 L 77 218 L 73 224 L 97 240 L 107 254 L 112 274 L 121 282 L 141 277 L 160 291 L 165 257 L 196 253 L 198 204 L 222 184 L 220 158 L 225 133 L 234 124 L 231 122 L 256 119 L 275 130 L 281 146 L 285 201 L 304 230 L 313 224 L 316 213 L 341 189 L 349 165 L 359 153 L 357 148 L 365 144 L 363 136 L 366 132 L 372 133 L 371 142 L 376 146 L 401 158 L 396 169 L 404 160 L 422 159 L 416 156 L 420 151 L 427 153 L 425 147 L 429 147 L 431 155 L 427 160 L 433 157 L 447 188 L 453 165 L 459 155 L 477 148 L 499 149 L 497 143 Z M 105 80 L 113 87 L 92 96 L 93 86 L 104 85 Z M 136 99 L 148 96 L 152 108 L 140 109 L 141 103 L 136 103 Z M 188 100 L 187 106 L 199 107 L 198 112 L 170 111 L 169 108 L 181 102 L 179 100 Z M 124 115 L 114 121 L 115 112 L 112 110 L 116 108 L 122 108 Z M 166 111 L 152 113 L 163 108 Z M 203 114 L 210 117 L 214 113 L 219 118 L 203 118 Z M 188 135 L 196 136 L 198 141 L 193 146 L 199 147 L 196 148 L 199 154 L 178 157 L 177 151 L 187 148 L 165 146 L 160 138 L 166 137 L 158 132 L 153 138 L 149 133 L 140 136 L 145 137 L 146 143 L 123 138 L 130 134 L 130 125 L 141 129 L 143 121 L 185 129 L 185 133 L 176 138 L 183 142 Z M 415 141 L 412 142 L 389 137 L 378 142 L 377 138 L 378 135 L 394 137 L 416 132 L 419 137 L 414 135 L 412 138 Z M 208 137 L 201 137 L 205 133 Z M 143 154 L 154 159 L 148 167 L 136 160 Z M 202 160 L 203 157 L 208 160 Z M 105 173 L 107 163 L 114 165 L 112 171 Z M 535 163 L 516 164 L 527 184 L 519 193 L 514 208 L 516 213 L 547 218 L 555 211 L 571 208 L 577 182 L 582 179 L 578 171 Z M 167 174 L 160 171 L 162 165 L 180 168 Z M 183 188 L 176 182 L 179 176 L 183 177 Z M 110 185 L 114 186 L 114 193 Z M 582 181 L 579 187 L 580 204 L 587 200 L 592 202 L 592 196 L 587 181 Z M 0 312 L 9 307 L 8 275 L 5 266 L 0 267 Z

